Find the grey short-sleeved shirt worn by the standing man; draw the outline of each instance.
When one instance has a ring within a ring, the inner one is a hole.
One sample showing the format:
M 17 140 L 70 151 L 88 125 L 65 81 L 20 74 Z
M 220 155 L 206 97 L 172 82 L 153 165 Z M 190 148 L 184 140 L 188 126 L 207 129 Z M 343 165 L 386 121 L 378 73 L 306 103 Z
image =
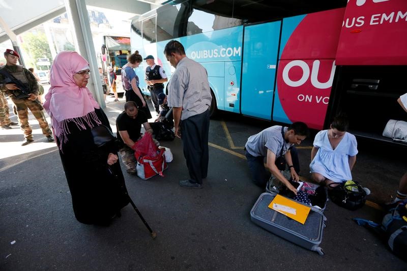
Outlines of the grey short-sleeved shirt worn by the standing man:
M 207 70 L 188 57 L 182 58 L 168 84 L 168 106 L 182 107 L 184 120 L 208 110 L 211 101 Z

